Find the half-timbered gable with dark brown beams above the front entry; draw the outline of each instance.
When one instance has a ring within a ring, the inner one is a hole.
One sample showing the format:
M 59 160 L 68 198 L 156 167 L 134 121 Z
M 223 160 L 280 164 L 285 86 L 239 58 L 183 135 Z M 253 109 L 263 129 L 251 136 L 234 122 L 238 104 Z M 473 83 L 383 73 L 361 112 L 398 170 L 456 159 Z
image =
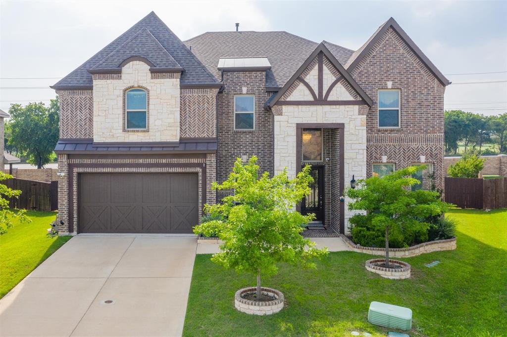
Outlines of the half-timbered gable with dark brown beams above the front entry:
M 305 78 L 317 67 L 317 83 L 311 85 Z M 324 68 L 331 72 L 334 80 L 325 88 L 324 91 Z M 349 100 L 329 100 L 333 89 L 340 83 L 353 99 Z M 311 100 L 288 100 L 292 92 L 300 85 L 306 87 L 309 91 Z M 316 87 L 316 88 L 315 88 Z M 333 54 L 320 43 L 310 54 L 307 60 L 294 73 L 294 75 L 285 83 L 278 93 L 266 102 L 265 108 L 271 109 L 274 105 L 373 105 L 372 99 L 365 93 L 352 76 L 338 62 Z

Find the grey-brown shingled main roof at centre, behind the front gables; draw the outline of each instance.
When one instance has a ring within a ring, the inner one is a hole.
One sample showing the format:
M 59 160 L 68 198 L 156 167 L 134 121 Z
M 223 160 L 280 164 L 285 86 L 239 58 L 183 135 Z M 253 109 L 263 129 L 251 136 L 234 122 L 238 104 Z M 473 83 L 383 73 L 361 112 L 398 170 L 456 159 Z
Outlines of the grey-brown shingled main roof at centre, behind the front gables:
M 185 41 L 201 62 L 219 77 L 221 58 L 267 57 L 266 87 L 281 88 L 319 45 L 285 31 L 207 32 Z M 354 51 L 324 41 L 336 59 L 345 64 Z

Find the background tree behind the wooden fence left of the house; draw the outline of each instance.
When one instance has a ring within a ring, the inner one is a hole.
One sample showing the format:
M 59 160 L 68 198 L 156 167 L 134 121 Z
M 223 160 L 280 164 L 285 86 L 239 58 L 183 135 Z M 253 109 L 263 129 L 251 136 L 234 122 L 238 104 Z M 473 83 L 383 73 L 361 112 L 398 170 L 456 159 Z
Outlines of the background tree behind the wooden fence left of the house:
M 58 141 L 58 112 L 58 97 L 51 100 L 49 107 L 44 103 L 29 103 L 25 107 L 13 104 L 9 109 L 9 143 L 37 168 L 56 158 L 53 150 Z

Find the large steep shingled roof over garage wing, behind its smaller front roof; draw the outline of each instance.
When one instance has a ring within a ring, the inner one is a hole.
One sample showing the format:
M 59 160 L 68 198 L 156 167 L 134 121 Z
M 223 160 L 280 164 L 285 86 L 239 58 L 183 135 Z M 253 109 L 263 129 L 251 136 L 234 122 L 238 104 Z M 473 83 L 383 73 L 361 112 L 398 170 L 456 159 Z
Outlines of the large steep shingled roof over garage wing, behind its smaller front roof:
M 162 22 L 162 20 L 160 20 L 160 18 L 154 12 L 151 12 L 126 32 L 121 34 L 112 43 L 92 56 L 88 61 L 59 80 L 51 88 L 55 90 L 91 89 L 93 87 L 93 81 L 92 75 L 88 72 L 88 69 L 91 69 L 97 63 L 111 56 L 113 52 L 117 51 L 120 46 L 127 43 L 127 41 L 129 41 L 134 37 L 134 35 L 143 30 L 143 28 L 149 30 L 151 35 L 153 35 L 153 37 L 160 43 L 160 45 L 167 51 L 167 53 L 170 54 L 173 60 L 185 69 L 180 79 L 182 87 L 221 86 L 219 80 L 216 79 L 215 76 L 213 76 L 207 70 L 207 68 L 197 59 L 194 54 L 192 54 L 192 52 L 188 50 L 182 41 Z M 126 47 L 128 47 L 128 44 Z M 118 55 L 120 55 L 120 51 L 117 51 L 116 56 Z M 166 60 L 165 62 L 172 61 Z

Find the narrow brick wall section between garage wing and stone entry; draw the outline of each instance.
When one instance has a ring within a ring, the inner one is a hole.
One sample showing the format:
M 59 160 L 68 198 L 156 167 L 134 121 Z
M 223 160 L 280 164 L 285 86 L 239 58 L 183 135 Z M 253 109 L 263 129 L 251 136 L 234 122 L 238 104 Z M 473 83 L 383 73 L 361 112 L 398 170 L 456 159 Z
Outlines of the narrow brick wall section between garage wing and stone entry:
M 264 71 L 224 72 L 224 90 L 218 95 L 217 179 L 227 179 L 236 158 L 256 155 L 261 172 L 273 174 L 272 113 L 264 109 L 266 92 Z M 243 92 L 246 88 L 246 92 Z M 255 130 L 234 130 L 234 95 L 255 95 Z

